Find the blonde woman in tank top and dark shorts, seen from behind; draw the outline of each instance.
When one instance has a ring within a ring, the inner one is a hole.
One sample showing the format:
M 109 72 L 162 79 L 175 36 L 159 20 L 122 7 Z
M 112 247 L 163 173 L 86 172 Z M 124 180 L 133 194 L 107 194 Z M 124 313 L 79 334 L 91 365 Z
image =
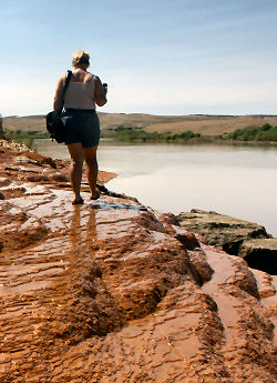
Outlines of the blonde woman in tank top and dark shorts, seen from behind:
M 88 165 L 88 180 L 91 189 L 91 199 L 96 200 L 98 160 L 96 151 L 100 140 L 100 124 L 95 112 L 95 103 L 103 107 L 106 103 L 106 89 L 100 79 L 90 72 L 90 56 L 81 50 L 73 54 L 72 77 L 64 98 L 62 113 L 66 128 L 65 144 L 71 155 L 70 179 L 74 193 L 73 204 L 82 204 L 80 194 L 83 161 Z M 66 80 L 66 73 L 59 79 L 53 109 L 57 110 Z

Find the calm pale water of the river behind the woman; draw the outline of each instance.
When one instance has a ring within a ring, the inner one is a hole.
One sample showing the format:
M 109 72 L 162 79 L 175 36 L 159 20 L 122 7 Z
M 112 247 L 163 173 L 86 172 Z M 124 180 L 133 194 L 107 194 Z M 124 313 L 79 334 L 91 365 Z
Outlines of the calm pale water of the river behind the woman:
M 66 147 L 38 140 L 44 155 L 69 159 Z M 101 142 L 107 188 L 162 212 L 214 210 L 260 223 L 277 236 L 277 149 L 218 145 L 119 145 Z

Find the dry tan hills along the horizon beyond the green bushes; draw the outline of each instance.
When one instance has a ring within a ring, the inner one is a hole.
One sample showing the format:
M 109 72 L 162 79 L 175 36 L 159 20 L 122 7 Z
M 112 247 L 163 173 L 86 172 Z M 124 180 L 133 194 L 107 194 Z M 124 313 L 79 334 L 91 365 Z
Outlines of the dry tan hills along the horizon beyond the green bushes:
M 207 135 L 232 132 L 253 125 L 270 123 L 277 125 L 277 115 L 152 115 L 143 113 L 102 113 L 99 112 L 101 129 L 110 130 L 119 125 L 142 128 L 148 132 L 178 133 L 192 130 Z M 7 117 L 3 128 L 10 130 L 45 132 L 44 115 Z

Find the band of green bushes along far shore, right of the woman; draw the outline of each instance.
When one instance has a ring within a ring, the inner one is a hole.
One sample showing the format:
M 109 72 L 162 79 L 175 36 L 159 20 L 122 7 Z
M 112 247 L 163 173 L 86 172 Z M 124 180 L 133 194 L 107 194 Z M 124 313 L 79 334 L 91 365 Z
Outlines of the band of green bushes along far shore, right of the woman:
M 277 142 L 277 127 L 269 123 L 263 127 L 249 127 L 245 129 L 237 129 L 232 133 L 224 133 L 220 135 L 203 135 L 194 133 L 191 130 L 181 133 L 158 133 L 146 132 L 140 128 L 117 127 L 110 132 L 102 132 L 102 138 L 111 138 L 115 141 L 122 142 L 172 142 L 172 143 L 208 143 L 208 142 L 236 142 L 236 141 L 263 141 Z

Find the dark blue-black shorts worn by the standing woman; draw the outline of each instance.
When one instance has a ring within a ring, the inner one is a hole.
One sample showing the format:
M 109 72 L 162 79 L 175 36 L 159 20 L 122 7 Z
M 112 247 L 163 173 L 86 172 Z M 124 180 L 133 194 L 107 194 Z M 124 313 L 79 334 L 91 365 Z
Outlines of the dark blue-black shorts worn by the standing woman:
M 81 142 L 84 148 L 98 147 L 100 123 L 95 110 L 69 109 L 62 113 L 66 129 L 65 144 Z

